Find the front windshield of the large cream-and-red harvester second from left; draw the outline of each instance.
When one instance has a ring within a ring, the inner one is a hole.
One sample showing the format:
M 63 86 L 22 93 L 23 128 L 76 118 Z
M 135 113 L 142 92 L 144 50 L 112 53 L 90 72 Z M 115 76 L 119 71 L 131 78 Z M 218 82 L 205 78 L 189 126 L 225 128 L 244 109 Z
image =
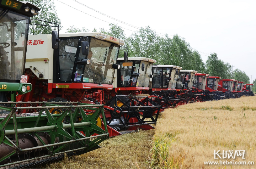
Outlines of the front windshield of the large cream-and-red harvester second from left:
M 87 57 L 91 63 L 85 67 L 83 81 L 112 84 L 115 71 L 112 65 L 116 64 L 119 47 L 119 45 L 92 38 Z

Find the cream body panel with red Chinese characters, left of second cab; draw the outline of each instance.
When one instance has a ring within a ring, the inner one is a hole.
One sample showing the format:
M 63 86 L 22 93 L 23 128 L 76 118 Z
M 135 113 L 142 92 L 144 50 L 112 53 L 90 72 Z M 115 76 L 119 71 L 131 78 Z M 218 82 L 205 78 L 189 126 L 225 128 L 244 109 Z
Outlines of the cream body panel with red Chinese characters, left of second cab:
M 42 73 L 42 80 L 48 80 L 48 83 L 53 83 L 52 35 L 41 34 L 28 36 L 25 68 L 31 69 L 38 78 L 39 74 Z

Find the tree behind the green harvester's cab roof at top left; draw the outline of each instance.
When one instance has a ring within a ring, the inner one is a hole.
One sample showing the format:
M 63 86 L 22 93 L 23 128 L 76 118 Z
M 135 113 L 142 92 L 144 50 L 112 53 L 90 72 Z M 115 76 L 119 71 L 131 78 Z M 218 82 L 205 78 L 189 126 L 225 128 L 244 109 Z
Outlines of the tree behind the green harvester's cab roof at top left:
M 20 1 L 30 2 L 31 4 L 41 9 L 39 14 L 37 16 L 34 16 L 33 19 L 40 19 L 43 21 L 58 23 L 60 25 L 60 29 L 62 29 L 61 21 L 58 18 L 53 0 L 20 0 Z M 35 26 L 33 25 L 33 23 L 41 24 L 41 22 L 39 21 L 32 20 L 30 34 L 51 34 L 52 30 L 58 30 L 58 28 L 53 28 L 53 27 Z M 45 22 L 43 22 L 43 24 L 51 25 Z M 34 27 L 34 30 L 33 30 L 33 27 Z

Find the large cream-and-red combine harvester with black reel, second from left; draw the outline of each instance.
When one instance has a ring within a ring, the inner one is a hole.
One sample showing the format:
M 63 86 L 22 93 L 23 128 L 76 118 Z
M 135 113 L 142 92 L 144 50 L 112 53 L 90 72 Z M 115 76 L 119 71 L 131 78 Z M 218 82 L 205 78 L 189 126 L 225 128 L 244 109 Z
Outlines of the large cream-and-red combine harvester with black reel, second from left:
M 62 34 L 59 40 L 56 37 L 58 37 L 57 33 L 29 36 L 29 40 L 33 43 L 41 41 L 39 45 L 28 45 L 25 68 L 28 80 L 34 88 L 26 96 L 18 97 L 18 100 L 76 101 L 89 105 L 106 103 L 104 106 L 106 117 L 101 116 L 101 118 L 107 120 L 110 136 L 121 134 L 118 132 L 120 130 L 137 130 L 138 127 L 140 129 L 154 128 L 151 124 L 156 124 L 157 117 L 153 118 L 152 112 L 158 115 L 159 105 L 152 106 L 154 103 L 146 97 L 143 101 L 139 101 L 136 97 L 127 96 L 129 100 L 124 101 L 121 99 L 123 96 L 113 92 L 116 89 L 113 89 L 112 85 L 115 69 L 121 68 L 117 63 L 118 53 L 124 41 L 96 32 Z M 56 39 L 59 41 L 59 46 L 55 45 Z M 35 51 L 41 55 L 34 55 Z M 127 57 L 125 51 L 126 61 Z M 144 68 L 143 65 L 146 67 Z M 152 65 L 151 62 L 144 63 L 143 61 L 141 66 L 139 64 L 141 68 L 138 68 L 140 69 L 138 71 L 144 75 L 149 69 L 150 74 L 152 67 L 150 65 Z M 143 77 L 138 77 L 140 78 Z M 107 103 L 108 101 L 112 104 Z M 120 106 L 119 102 L 123 105 Z M 87 113 L 94 112 L 86 111 Z M 51 109 L 50 112 L 52 114 L 63 113 L 59 109 Z M 97 121 L 98 126 L 105 129 L 102 120 L 99 118 Z

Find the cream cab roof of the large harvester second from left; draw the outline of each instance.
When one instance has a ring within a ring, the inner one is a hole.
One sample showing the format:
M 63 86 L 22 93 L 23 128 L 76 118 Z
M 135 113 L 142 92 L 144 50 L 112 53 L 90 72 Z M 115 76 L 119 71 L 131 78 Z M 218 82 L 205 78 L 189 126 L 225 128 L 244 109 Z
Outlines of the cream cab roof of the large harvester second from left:
M 124 40 L 122 39 L 118 39 L 118 38 L 114 38 L 113 36 L 110 35 L 106 35 L 100 32 L 85 32 L 85 33 L 81 33 L 81 32 L 77 32 L 77 33 L 64 33 L 64 34 L 60 34 L 59 38 L 66 38 L 66 37 L 82 37 L 82 36 L 91 36 L 91 37 L 95 37 L 97 39 L 100 40 L 106 40 L 109 42 L 112 42 L 114 44 L 118 44 L 123 46 L 124 45 Z M 101 36 L 101 37 L 99 37 Z

